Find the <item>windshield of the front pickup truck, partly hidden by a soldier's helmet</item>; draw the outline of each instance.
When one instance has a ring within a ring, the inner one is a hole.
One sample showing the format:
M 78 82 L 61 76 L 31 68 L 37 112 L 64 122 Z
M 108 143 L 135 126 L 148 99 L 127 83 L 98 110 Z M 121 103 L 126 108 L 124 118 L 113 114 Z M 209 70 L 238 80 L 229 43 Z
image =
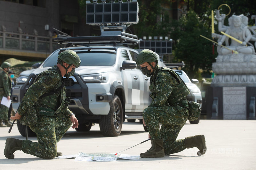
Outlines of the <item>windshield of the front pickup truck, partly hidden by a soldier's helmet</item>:
M 57 64 L 58 52 L 48 57 L 43 67 L 52 67 Z M 116 52 L 112 51 L 76 51 L 81 59 L 80 66 L 112 66 L 116 61 Z

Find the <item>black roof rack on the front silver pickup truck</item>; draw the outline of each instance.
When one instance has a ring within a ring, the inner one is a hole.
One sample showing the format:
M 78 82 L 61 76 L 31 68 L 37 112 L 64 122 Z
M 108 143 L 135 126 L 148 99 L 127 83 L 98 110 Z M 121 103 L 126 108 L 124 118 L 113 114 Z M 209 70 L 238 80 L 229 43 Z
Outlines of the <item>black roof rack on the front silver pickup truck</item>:
M 101 36 L 83 36 L 83 37 L 67 37 L 63 35 L 58 35 L 54 38 L 58 44 L 69 44 L 81 46 L 81 45 L 107 45 L 107 44 L 127 44 L 136 45 L 140 43 L 138 37 L 133 34 L 124 33 L 121 31 L 106 31 Z

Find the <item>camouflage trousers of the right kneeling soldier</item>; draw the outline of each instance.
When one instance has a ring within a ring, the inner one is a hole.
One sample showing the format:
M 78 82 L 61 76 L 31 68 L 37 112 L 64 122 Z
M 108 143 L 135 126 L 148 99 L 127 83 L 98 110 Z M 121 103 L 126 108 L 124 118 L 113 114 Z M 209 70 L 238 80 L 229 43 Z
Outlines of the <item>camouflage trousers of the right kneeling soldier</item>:
M 143 118 L 151 138 L 163 139 L 165 155 L 186 149 L 185 139 L 176 139 L 188 120 L 188 109 L 179 105 L 147 107 L 143 111 Z M 161 129 L 159 123 L 162 124 Z

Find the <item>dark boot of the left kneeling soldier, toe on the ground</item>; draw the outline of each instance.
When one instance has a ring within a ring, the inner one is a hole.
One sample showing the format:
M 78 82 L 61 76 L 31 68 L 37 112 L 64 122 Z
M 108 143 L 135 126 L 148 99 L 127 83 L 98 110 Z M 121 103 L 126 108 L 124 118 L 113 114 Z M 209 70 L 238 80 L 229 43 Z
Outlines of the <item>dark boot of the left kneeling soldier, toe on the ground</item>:
M 14 159 L 13 152 L 22 150 L 22 140 L 8 137 L 5 142 L 4 155 L 8 159 Z

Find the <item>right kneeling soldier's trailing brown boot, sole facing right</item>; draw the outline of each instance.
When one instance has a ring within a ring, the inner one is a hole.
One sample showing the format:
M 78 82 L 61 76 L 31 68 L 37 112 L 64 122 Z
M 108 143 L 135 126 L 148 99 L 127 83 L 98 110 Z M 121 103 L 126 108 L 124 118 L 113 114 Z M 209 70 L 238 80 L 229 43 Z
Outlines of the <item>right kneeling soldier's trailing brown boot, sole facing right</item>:
M 187 148 L 197 147 L 199 151 L 197 152 L 198 156 L 202 156 L 206 152 L 206 144 L 204 135 L 196 135 L 193 137 L 186 137 L 185 144 Z

